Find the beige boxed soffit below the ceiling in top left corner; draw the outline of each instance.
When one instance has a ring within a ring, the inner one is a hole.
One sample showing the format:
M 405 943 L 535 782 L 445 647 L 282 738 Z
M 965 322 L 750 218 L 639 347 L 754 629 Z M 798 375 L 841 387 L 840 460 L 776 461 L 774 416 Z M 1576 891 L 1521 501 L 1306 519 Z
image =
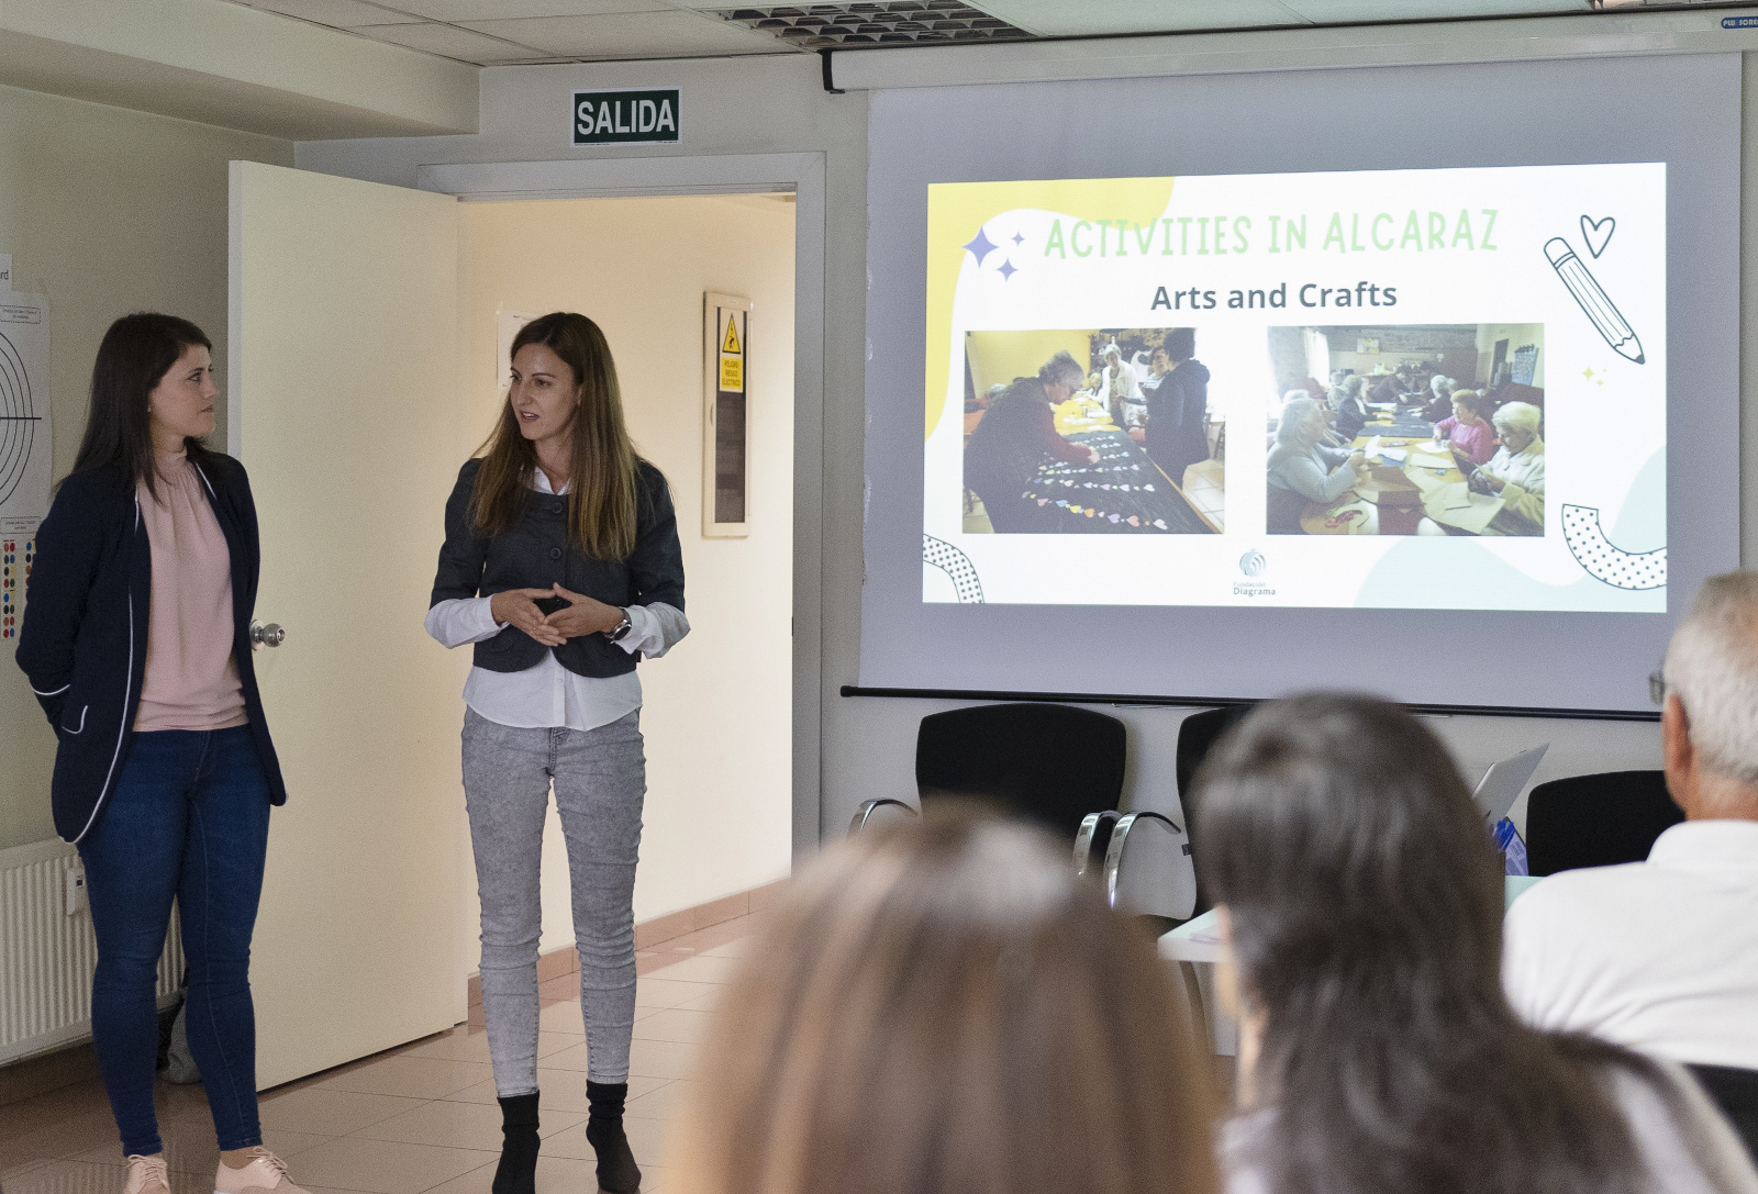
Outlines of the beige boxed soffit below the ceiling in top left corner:
M 476 76 L 222 0 L 0 4 L 0 83 L 290 141 L 475 132 Z

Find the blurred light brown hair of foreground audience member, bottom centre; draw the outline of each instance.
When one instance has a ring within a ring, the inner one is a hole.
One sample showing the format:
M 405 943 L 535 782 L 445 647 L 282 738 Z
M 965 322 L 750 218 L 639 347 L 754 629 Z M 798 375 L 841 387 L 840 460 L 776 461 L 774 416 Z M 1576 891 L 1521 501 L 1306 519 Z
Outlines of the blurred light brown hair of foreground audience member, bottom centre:
M 1211 1097 L 1141 925 L 1035 830 L 863 832 L 793 879 L 686 1111 L 689 1194 L 1211 1194 Z

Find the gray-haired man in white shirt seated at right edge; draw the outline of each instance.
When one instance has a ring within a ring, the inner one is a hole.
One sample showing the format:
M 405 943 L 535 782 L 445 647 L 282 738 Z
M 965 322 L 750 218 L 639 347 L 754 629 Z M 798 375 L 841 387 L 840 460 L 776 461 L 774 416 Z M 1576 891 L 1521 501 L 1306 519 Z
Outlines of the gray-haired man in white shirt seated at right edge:
M 1508 909 L 1503 985 L 1545 1029 L 1758 1069 L 1758 573 L 1704 584 L 1667 651 L 1667 790 L 1647 862 L 1566 870 Z

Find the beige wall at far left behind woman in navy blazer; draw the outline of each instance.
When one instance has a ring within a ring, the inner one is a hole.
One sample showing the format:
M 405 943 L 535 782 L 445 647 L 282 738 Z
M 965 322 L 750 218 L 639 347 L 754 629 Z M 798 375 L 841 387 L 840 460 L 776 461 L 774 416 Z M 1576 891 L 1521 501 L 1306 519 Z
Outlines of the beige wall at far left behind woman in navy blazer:
M 195 320 L 225 376 L 227 160 L 292 165 L 288 141 L 0 88 L 0 253 L 49 297 L 54 477 L 74 464 L 98 339 L 130 311 Z M 225 403 L 213 443 L 225 445 Z M 0 640 L 0 849 L 54 837 L 54 733 Z

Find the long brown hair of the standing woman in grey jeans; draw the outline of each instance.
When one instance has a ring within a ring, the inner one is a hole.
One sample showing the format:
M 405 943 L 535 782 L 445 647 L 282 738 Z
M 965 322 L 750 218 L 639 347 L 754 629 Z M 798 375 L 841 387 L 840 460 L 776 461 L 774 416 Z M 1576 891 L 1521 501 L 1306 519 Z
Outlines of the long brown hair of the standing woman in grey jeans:
M 526 345 L 541 345 L 561 357 L 580 387 L 570 424 L 568 533 L 594 559 L 628 559 L 635 550 L 642 457 L 622 422 L 622 387 L 605 332 L 584 315 L 554 311 L 519 329 L 508 364 Z M 471 521 L 482 535 L 501 535 L 524 515 L 538 468 L 536 447 L 519 431 L 512 392 L 476 452 L 482 468 L 471 491 Z

